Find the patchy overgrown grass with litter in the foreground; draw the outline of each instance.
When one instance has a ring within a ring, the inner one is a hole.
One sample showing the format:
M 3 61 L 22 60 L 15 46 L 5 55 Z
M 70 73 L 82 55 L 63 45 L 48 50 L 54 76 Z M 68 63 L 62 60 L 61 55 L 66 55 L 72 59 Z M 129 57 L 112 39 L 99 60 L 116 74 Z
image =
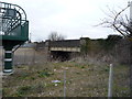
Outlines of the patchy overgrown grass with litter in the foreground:
M 109 66 L 75 62 L 15 67 L 13 75 L 3 77 L 3 97 L 63 97 L 64 70 L 67 97 L 107 97 Z M 113 96 L 130 96 L 129 67 L 113 70 Z

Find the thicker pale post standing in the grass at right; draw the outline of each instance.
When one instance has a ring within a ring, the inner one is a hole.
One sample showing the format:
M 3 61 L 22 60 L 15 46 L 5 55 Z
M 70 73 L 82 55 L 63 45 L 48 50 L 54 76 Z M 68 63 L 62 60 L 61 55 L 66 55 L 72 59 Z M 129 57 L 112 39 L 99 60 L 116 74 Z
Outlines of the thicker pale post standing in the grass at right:
M 109 86 L 108 86 L 108 98 L 112 97 L 112 76 L 113 76 L 113 65 L 110 64 L 110 72 L 109 72 Z

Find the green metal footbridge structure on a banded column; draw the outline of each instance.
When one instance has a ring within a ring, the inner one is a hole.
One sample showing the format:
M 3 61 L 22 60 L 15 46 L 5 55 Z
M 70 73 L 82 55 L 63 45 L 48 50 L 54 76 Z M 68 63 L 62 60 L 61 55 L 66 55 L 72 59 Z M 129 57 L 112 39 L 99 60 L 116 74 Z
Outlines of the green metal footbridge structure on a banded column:
M 29 40 L 29 21 L 25 11 L 12 3 L 0 2 L 0 42 L 4 48 L 3 73 L 12 73 L 14 46 Z M 14 50 L 15 48 L 15 50 Z

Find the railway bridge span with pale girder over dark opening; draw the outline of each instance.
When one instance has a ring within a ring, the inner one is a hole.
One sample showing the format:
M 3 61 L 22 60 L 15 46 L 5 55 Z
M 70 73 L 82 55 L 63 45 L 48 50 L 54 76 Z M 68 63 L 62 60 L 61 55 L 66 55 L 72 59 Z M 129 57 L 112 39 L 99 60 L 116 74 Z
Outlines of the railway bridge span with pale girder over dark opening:
M 80 40 L 47 41 L 50 57 L 62 62 L 80 53 Z

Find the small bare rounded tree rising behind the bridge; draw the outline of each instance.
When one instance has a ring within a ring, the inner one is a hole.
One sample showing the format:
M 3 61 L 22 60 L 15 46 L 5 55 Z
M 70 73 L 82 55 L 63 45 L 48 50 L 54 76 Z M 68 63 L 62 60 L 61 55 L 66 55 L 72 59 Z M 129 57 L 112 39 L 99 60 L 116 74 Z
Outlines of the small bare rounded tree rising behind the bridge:
M 48 40 L 51 40 L 51 41 L 65 40 L 65 35 L 58 34 L 57 32 L 52 32 L 52 33 L 48 35 Z

